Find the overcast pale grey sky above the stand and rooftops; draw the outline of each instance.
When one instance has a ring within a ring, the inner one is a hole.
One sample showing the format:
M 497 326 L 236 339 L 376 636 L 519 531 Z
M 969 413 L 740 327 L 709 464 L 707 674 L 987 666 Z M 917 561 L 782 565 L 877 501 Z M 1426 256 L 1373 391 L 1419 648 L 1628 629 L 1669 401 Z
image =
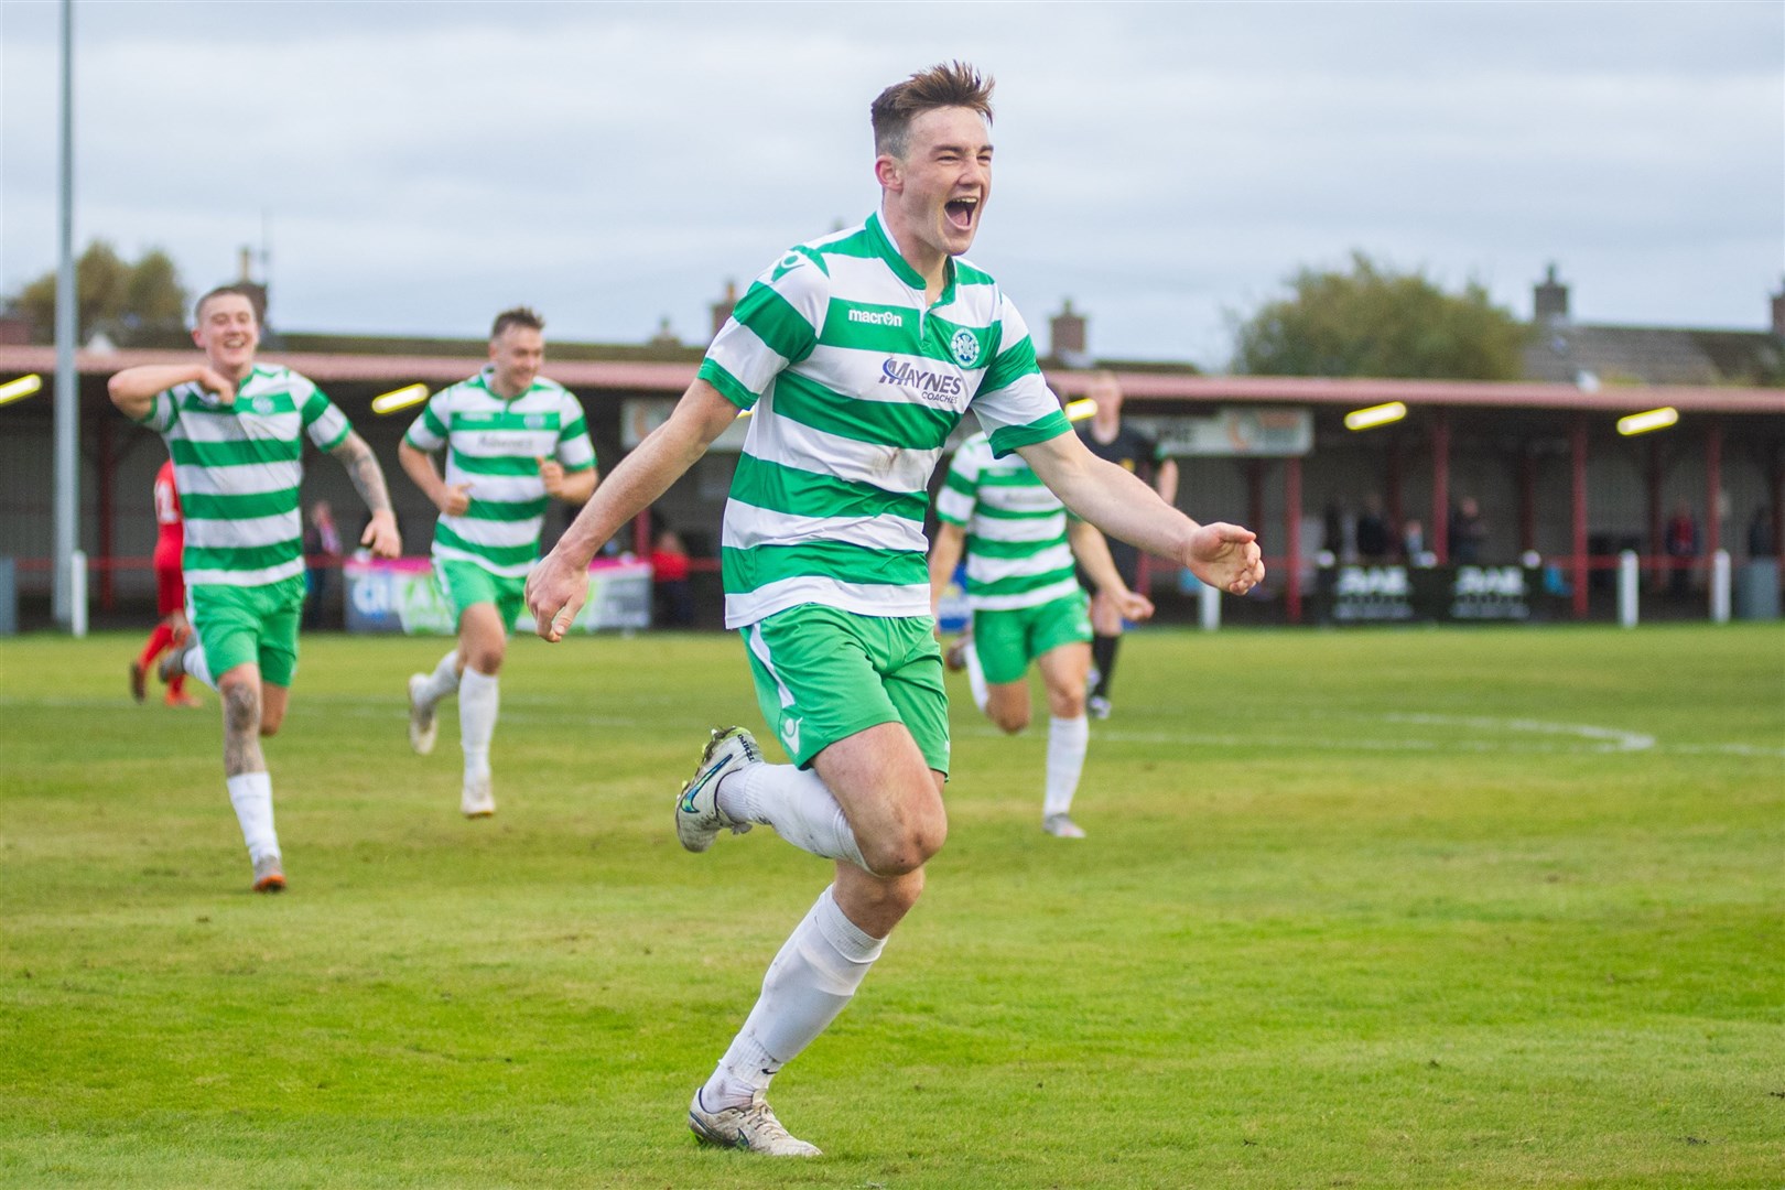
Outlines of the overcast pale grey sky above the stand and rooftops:
M 55 266 L 54 0 L 0 0 L 0 293 Z M 1353 248 L 1521 318 L 1762 328 L 1785 5 L 77 0 L 75 239 L 195 293 L 270 248 L 284 330 L 703 341 L 726 278 L 878 202 L 868 103 L 998 79 L 969 257 L 1091 350 L 1226 364 Z M 264 228 L 264 232 L 262 232 Z

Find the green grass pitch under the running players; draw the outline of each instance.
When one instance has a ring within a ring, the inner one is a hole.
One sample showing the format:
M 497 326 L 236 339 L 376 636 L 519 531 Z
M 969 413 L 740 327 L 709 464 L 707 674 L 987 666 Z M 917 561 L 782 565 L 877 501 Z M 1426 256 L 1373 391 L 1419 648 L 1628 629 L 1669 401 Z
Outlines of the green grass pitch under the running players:
M 443 644 L 307 639 L 278 897 L 137 646 L 0 640 L 4 1185 L 1785 1186 L 1776 624 L 1142 632 L 1083 842 L 955 689 L 925 901 L 775 1083 L 803 1163 L 684 1126 L 826 881 L 675 846 L 734 637 L 516 640 L 484 822 L 452 705 L 403 739 Z

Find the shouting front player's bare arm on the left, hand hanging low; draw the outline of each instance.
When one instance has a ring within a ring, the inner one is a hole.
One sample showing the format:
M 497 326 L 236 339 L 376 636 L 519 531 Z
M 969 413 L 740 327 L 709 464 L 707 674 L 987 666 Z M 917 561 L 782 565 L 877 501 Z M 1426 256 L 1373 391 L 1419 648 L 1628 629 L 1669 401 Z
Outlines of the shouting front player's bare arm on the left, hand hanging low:
M 737 417 L 705 380 L 689 385 L 662 423 L 619 460 L 557 546 L 527 580 L 527 607 L 546 640 L 562 640 L 589 598 L 589 560 L 614 532 L 657 501 Z

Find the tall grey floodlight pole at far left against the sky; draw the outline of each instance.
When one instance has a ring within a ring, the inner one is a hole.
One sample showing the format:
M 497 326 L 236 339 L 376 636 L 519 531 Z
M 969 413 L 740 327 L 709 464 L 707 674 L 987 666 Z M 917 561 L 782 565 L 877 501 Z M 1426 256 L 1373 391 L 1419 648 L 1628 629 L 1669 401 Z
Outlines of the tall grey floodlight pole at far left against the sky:
M 62 171 L 55 271 L 55 541 L 50 580 L 55 623 L 73 628 L 75 537 L 80 521 L 80 384 L 75 375 L 75 0 L 62 0 Z M 82 574 L 82 578 L 86 578 Z

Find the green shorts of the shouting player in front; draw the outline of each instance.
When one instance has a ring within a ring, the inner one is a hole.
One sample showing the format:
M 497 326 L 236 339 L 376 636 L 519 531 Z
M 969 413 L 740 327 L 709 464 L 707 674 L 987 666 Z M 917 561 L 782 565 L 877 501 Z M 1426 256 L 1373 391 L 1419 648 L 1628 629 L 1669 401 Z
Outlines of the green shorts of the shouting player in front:
M 948 773 L 948 694 L 934 619 L 803 603 L 739 632 L 762 717 L 801 769 L 841 739 L 903 723 L 925 762 Z

